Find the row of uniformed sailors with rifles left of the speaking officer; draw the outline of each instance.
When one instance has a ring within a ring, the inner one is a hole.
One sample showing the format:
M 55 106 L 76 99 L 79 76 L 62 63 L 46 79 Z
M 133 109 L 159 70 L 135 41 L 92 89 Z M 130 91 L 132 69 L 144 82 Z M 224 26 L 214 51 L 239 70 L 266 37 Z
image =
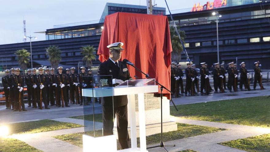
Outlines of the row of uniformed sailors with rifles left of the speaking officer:
M 2 84 L 6 97 L 6 109 L 14 111 L 27 111 L 24 105 L 23 88 L 26 85 L 28 95 L 28 107 L 50 109 L 50 106 L 70 107 L 68 103 L 88 105 L 91 98 L 83 100 L 82 88 L 92 88 L 92 79 L 87 76 L 93 76 L 89 68 L 88 73 L 85 67 L 80 67 L 81 73 L 75 73 L 75 67 L 67 68 L 63 73 L 63 67 L 57 68 L 57 74 L 54 74 L 54 68 L 32 68 L 27 69 L 27 76 L 20 75 L 20 68 L 6 69 Z M 38 70 L 38 75 L 37 75 Z M 45 72 L 44 72 L 45 71 Z M 70 73 L 71 72 L 71 73 Z M 79 91 L 80 90 L 80 91 Z M 70 97 L 70 98 L 69 98 Z M 70 100 L 69 100 L 70 99 Z M 97 99 L 95 99 L 97 102 Z

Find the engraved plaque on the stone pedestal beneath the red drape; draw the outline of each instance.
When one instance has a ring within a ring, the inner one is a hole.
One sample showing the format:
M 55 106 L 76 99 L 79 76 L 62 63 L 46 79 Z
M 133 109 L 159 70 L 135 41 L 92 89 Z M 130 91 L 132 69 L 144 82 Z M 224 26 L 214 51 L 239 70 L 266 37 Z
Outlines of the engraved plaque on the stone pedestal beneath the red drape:
M 138 95 L 135 95 L 135 107 L 138 109 Z M 155 97 L 153 93 L 145 93 L 145 110 L 160 109 L 160 97 Z

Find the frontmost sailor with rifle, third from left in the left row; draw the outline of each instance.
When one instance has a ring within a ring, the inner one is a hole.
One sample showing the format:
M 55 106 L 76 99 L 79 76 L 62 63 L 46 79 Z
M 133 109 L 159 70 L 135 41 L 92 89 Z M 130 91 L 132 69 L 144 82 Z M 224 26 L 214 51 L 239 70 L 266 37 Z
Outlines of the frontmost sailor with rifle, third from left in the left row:
M 27 111 L 23 102 L 24 78 L 20 75 L 20 68 L 16 68 L 16 74 L 12 77 L 12 85 L 14 86 L 14 111 Z

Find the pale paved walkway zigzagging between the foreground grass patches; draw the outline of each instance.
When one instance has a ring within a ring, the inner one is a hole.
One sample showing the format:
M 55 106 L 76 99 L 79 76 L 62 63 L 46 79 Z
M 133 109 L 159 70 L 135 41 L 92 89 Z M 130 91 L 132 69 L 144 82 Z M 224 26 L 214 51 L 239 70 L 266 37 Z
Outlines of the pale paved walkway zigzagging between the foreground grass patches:
M 60 119 L 52 119 L 52 120 L 61 121 L 61 122 L 72 122 L 72 123 L 77 123 L 80 125 L 83 125 L 84 122 L 93 123 L 91 121 L 83 121 L 80 119 L 74 120 L 72 118 L 60 118 Z M 207 121 L 200 121 L 200 120 L 182 119 L 178 117 L 172 117 L 172 120 L 178 123 L 224 128 L 228 130 L 165 142 L 165 144 L 168 144 L 168 145 L 176 144 L 176 147 L 166 147 L 167 150 L 169 150 L 170 152 L 178 152 L 178 151 L 186 150 L 186 149 L 192 149 L 199 152 L 220 152 L 220 151 L 244 152 L 243 150 L 238 150 L 238 149 L 230 148 L 227 146 L 222 146 L 222 145 L 219 145 L 218 143 L 235 140 L 239 138 L 247 138 L 251 136 L 270 133 L 270 128 L 268 129 L 268 128 L 234 125 L 234 124 L 227 124 L 227 123 L 215 123 L 215 122 L 207 122 Z M 97 123 L 96 126 L 102 128 L 102 123 Z M 80 132 L 85 131 L 85 129 L 86 131 L 93 130 L 93 128 L 91 127 L 87 127 L 87 128 L 79 127 L 79 128 L 64 129 L 64 130 L 58 130 L 58 131 L 41 132 L 41 133 L 35 133 L 35 134 L 19 134 L 19 135 L 15 134 L 15 135 L 10 136 L 10 138 L 19 139 L 29 144 L 30 146 L 33 146 L 44 152 L 55 152 L 55 150 L 63 151 L 63 152 L 74 152 L 74 151 L 81 152 L 83 151 L 82 148 L 69 144 L 67 142 L 61 141 L 59 139 L 53 138 L 52 136 L 71 134 L 71 133 L 80 133 Z M 148 146 L 155 146 L 155 145 L 156 144 L 148 145 Z M 162 148 L 149 149 L 149 152 L 163 152 L 163 151 L 164 150 Z

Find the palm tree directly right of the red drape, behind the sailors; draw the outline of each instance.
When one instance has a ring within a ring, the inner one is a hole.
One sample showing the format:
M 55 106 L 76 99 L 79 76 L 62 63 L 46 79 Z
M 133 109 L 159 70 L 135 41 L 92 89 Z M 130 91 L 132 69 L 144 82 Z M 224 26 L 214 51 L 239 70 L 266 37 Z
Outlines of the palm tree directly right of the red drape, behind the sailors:
M 178 29 L 178 32 L 180 34 L 181 40 L 183 41 L 183 43 L 185 43 L 184 42 L 184 39 L 186 38 L 185 31 L 181 31 Z M 180 61 L 181 53 L 183 51 L 183 46 L 173 26 L 170 27 L 170 34 L 171 34 L 171 42 L 172 42 L 172 60 Z

